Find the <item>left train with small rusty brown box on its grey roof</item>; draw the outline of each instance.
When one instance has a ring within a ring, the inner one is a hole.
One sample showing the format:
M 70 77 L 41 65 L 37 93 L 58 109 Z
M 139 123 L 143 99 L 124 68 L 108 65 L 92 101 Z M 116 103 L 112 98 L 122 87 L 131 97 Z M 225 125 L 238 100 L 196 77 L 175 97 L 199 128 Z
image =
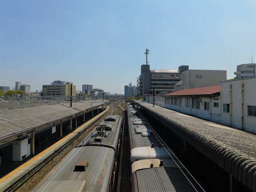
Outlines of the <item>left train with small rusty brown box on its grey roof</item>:
M 33 192 L 111 192 L 122 116 L 107 116 L 34 188 Z

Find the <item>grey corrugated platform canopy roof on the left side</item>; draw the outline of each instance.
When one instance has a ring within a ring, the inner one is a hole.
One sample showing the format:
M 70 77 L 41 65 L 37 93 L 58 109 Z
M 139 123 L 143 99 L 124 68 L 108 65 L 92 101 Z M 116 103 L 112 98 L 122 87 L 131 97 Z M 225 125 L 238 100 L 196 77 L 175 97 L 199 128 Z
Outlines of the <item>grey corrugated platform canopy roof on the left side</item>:
M 68 103 L 34 103 L 21 108 L 7 108 L 8 104 L 5 104 L 4 108 L 0 108 L 0 141 L 104 103 L 102 100 L 73 102 L 72 107 Z M 10 104 L 10 107 L 13 106 L 13 103 Z

